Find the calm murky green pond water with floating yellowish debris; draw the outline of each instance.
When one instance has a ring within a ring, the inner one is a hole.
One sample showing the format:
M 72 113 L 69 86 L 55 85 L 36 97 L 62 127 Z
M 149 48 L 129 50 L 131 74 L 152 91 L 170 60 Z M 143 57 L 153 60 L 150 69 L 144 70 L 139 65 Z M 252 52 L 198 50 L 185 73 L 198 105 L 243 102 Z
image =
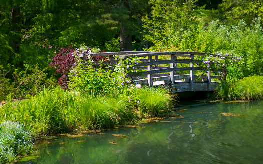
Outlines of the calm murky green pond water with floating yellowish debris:
M 179 109 L 184 118 L 46 139 L 17 163 L 263 163 L 263 101 Z

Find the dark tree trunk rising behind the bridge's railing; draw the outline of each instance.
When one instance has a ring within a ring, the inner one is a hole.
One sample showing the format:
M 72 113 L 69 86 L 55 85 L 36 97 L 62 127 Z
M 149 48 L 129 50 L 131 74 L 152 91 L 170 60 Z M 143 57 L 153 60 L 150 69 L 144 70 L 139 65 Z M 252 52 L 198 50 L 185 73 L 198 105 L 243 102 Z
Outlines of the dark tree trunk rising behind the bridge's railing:
M 131 12 L 128 0 L 125 0 L 123 6 Z M 131 21 L 131 13 L 129 13 L 129 19 L 121 20 L 120 51 L 132 51 L 132 35 L 130 34 L 128 27 L 128 24 L 130 24 L 129 22 Z

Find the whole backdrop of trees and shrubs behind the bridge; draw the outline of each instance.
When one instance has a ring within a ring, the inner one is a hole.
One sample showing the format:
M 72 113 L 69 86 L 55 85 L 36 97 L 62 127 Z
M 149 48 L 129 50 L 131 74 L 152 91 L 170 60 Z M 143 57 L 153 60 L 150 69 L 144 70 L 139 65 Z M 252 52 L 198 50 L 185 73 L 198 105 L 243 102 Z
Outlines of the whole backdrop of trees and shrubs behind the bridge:
M 243 77 L 262 75 L 262 9 L 260 0 L 0 0 L 1 81 L 36 64 L 50 78 L 61 47 L 83 43 L 105 51 L 234 50 L 244 58 Z

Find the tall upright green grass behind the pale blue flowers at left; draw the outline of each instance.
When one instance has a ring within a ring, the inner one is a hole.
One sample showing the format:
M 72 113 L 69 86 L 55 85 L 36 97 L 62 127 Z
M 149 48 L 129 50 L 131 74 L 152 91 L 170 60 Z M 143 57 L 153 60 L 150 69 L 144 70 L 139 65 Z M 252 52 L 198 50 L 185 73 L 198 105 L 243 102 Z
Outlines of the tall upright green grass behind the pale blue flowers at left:
M 43 89 L 30 99 L 8 102 L 0 108 L 0 112 L 3 120 L 20 122 L 36 135 L 59 133 L 65 124 L 62 119 L 64 94 L 60 88 Z

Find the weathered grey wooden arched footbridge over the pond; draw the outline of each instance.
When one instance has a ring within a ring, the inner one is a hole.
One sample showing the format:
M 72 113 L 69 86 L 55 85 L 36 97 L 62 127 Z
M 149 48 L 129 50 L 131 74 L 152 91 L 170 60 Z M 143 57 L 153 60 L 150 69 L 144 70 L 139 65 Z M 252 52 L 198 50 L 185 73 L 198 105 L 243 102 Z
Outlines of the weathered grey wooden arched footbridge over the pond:
M 89 54 L 79 54 L 79 57 L 83 58 L 85 61 Z M 168 51 L 168 52 L 147 52 L 147 51 L 123 51 L 123 52 L 105 52 L 105 53 L 93 53 L 91 56 L 108 56 L 109 59 L 103 61 L 103 64 L 109 64 L 110 69 L 114 69 L 113 65 L 118 63 L 117 57 L 119 55 L 120 59 L 125 59 L 129 57 L 138 57 L 141 61 L 135 67 L 133 67 L 134 72 L 136 69 L 144 70 L 141 73 L 143 76 L 138 76 L 136 73 L 130 73 L 128 76 L 136 81 L 137 85 L 149 85 L 158 86 L 165 85 L 166 87 L 171 87 L 172 92 L 186 92 L 186 91 L 212 91 L 215 89 L 218 80 L 221 80 L 223 75 L 227 72 L 227 69 L 210 69 L 207 67 L 194 67 L 194 58 L 197 55 L 213 55 L 216 54 L 200 53 L 200 52 L 182 52 L 182 51 Z M 161 57 L 163 56 L 163 57 Z M 167 57 L 168 56 L 168 57 Z M 181 59 L 181 58 L 189 59 Z M 160 59 L 162 58 L 162 59 Z M 168 59 L 167 59 L 168 58 Z M 95 64 L 99 64 L 99 61 L 94 61 Z M 188 67 L 178 67 L 178 63 L 184 63 Z M 163 66 L 170 64 L 169 67 Z M 209 64 L 208 64 L 209 65 Z M 204 75 L 195 75 L 195 70 L 207 70 Z M 180 72 L 189 72 L 189 74 L 178 74 Z M 223 72 L 222 76 L 211 75 L 211 71 Z M 212 79 L 218 79 L 217 81 L 212 81 Z

